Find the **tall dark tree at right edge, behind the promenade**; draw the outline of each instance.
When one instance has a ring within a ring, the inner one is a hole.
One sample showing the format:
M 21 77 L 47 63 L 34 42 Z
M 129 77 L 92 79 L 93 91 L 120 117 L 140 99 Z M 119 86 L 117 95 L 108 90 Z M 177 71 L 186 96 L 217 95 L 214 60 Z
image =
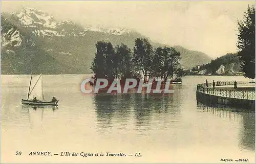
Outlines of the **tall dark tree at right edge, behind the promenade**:
M 238 56 L 244 76 L 255 78 L 255 7 L 249 7 L 243 20 L 238 20 Z

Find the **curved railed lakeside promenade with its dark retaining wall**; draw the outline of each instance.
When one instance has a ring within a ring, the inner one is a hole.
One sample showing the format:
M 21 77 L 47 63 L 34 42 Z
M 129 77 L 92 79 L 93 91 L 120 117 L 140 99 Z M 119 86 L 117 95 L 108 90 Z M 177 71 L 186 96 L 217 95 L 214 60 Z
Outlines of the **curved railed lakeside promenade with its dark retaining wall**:
M 234 82 L 217 81 L 215 88 L 212 83 L 197 85 L 197 101 L 209 104 L 223 104 L 248 110 L 255 110 L 255 83 L 237 82 L 240 85 L 234 89 Z

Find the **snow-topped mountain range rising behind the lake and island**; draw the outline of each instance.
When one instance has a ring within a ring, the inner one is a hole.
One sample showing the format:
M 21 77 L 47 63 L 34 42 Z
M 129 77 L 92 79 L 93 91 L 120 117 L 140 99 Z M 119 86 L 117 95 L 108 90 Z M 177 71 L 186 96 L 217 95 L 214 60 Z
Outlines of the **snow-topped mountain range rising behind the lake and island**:
M 124 43 L 133 49 L 138 37 L 150 38 L 123 28 L 81 26 L 71 20 L 59 21 L 52 15 L 32 8 L 1 13 L 2 74 L 88 74 L 97 41 Z M 151 41 L 154 48 L 164 46 Z M 184 68 L 208 63 L 211 58 L 182 46 Z

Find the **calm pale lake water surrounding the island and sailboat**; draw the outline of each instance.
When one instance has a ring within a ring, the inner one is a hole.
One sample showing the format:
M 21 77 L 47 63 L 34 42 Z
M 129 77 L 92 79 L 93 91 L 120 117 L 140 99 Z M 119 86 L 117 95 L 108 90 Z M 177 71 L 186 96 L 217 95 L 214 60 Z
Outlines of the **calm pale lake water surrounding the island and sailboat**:
M 187 76 L 174 93 L 162 96 L 84 95 L 80 84 L 85 77 L 90 76 L 44 75 L 45 99 L 56 96 L 59 106 L 33 109 L 20 102 L 27 98 L 30 76 L 1 76 L 2 162 L 255 162 L 254 111 L 196 101 L 196 84 L 205 79 L 248 79 Z M 31 151 L 51 151 L 52 156 L 29 156 Z M 60 156 L 66 151 L 78 156 Z M 104 156 L 81 157 L 81 152 Z M 135 157 L 136 152 L 142 157 Z

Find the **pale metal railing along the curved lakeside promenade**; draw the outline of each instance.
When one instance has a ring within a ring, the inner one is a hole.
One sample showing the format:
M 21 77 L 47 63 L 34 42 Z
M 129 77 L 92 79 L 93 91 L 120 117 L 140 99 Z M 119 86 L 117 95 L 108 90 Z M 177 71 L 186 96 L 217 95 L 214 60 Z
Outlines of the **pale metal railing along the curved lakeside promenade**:
M 248 84 L 248 82 L 237 82 L 238 84 Z M 234 82 L 228 81 L 218 81 L 216 86 L 222 85 L 234 85 Z M 230 90 L 222 88 L 211 88 L 212 83 L 208 83 L 206 87 L 205 83 L 197 85 L 197 91 L 201 93 L 206 93 L 208 95 L 215 95 L 226 98 L 236 98 L 236 99 L 245 99 L 245 100 L 255 100 L 255 91 L 243 91 L 243 90 Z

